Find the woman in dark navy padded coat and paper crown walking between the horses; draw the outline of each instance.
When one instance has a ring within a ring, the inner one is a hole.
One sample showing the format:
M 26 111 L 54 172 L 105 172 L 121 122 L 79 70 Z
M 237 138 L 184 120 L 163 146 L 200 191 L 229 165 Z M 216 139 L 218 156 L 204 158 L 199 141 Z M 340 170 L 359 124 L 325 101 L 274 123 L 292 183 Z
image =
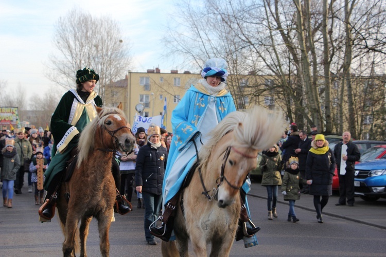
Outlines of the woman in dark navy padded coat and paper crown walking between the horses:
M 139 149 L 135 163 L 135 190 L 142 193 L 145 202 L 145 238 L 149 245 L 156 245 L 149 227 L 160 213 L 162 184 L 164 182 L 167 150 L 161 146 L 160 127 L 151 123 L 148 142 Z

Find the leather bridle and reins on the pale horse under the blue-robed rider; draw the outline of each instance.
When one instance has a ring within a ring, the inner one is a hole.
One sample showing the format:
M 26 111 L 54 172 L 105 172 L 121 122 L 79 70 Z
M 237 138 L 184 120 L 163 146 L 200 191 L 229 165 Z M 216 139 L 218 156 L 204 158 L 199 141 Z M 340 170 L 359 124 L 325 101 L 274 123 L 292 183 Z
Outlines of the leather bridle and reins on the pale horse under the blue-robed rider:
M 196 148 L 197 161 L 199 161 L 197 145 L 196 145 L 196 142 L 194 140 L 193 140 L 193 144 L 195 145 L 195 148 Z M 237 153 L 243 157 L 246 157 L 246 158 L 257 158 L 257 155 L 252 156 L 252 155 L 244 154 L 244 153 L 239 152 L 232 145 L 228 146 L 225 150 L 224 157 L 222 158 L 223 161 L 222 161 L 222 165 L 221 165 L 221 173 L 220 173 L 220 177 L 216 179 L 217 189 L 215 189 L 215 188 L 213 189 L 213 192 L 214 192 L 213 196 L 209 195 L 210 190 L 209 191 L 206 190 L 205 183 L 204 183 L 204 180 L 202 178 L 201 168 L 198 168 L 198 174 L 200 177 L 201 185 L 202 185 L 202 188 L 204 189 L 204 191 L 201 194 L 205 195 L 205 198 L 207 198 L 209 201 L 211 201 L 213 199 L 213 197 L 215 198 L 215 200 L 217 200 L 218 188 L 221 186 L 221 184 L 224 180 L 231 188 L 233 188 L 235 190 L 240 190 L 240 188 L 241 188 L 241 187 L 237 187 L 237 186 L 232 185 L 231 182 L 224 175 L 226 161 L 228 160 L 228 157 L 231 153 L 231 150 L 233 150 L 235 153 Z M 247 176 L 245 176 L 243 181 L 245 182 L 245 180 L 247 180 L 247 178 L 248 178 L 248 174 L 247 174 Z

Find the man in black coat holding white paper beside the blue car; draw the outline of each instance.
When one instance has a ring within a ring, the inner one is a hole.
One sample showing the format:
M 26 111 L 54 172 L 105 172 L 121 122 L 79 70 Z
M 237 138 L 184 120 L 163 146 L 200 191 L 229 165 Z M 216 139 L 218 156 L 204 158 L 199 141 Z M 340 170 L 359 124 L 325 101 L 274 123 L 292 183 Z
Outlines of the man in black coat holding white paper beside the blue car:
M 342 137 L 343 141 L 335 145 L 334 149 L 339 176 L 339 202 L 336 206 L 346 205 L 346 198 L 348 206 L 354 206 L 354 169 L 361 154 L 358 146 L 350 142 L 351 134 L 348 131 Z

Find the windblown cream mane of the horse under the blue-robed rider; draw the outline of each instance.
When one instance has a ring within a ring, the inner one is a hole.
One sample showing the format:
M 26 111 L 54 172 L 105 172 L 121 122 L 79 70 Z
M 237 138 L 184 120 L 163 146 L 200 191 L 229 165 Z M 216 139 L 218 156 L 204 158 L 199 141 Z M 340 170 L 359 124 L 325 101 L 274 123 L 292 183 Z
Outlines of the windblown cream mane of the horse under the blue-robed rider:
M 236 111 L 228 114 L 208 134 L 208 142 L 199 152 L 200 159 L 208 160 L 217 142 L 227 133 L 233 133 L 229 145 L 265 150 L 275 144 L 284 131 L 284 119 L 280 112 L 254 106 L 247 112 Z

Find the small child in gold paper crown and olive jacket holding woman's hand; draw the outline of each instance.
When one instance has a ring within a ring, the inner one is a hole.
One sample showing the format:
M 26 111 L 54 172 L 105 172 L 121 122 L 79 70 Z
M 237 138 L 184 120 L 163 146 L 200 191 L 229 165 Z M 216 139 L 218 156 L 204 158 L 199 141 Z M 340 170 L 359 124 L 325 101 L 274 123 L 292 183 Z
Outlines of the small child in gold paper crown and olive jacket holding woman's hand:
M 300 199 L 300 187 L 299 183 L 302 182 L 306 185 L 307 180 L 300 176 L 299 171 L 299 159 L 291 156 L 289 158 L 290 168 L 286 169 L 282 183 L 282 194 L 284 200 L 289 201 L 289 212 L 287 221 L 299 222 L 299 218 L 295 214 L 295 201 Z

